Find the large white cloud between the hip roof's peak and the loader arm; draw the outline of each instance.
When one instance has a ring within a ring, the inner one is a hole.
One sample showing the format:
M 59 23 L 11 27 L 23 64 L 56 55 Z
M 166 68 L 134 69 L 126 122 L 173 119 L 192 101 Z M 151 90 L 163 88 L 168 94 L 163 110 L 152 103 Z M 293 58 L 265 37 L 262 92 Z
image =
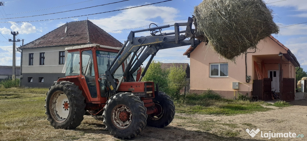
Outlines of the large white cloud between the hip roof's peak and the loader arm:
M 156 23 L 152 21 L 155 18 L 161 18 L 163 22 L 174 21 L 174 18 L 177 17 L 177 13 L 178 10 L 173 7 L 148 5 L 126 9 L 123 10 L 122 13 L 115 16 L 102 18 L 99 20 L 91 20 L 91 22 L 107 32 L 116 31 L 112 33 L 122 33 L 122 31 L 117 30 L 142 27 L 144 25 L 149 25 L 150 23 Z

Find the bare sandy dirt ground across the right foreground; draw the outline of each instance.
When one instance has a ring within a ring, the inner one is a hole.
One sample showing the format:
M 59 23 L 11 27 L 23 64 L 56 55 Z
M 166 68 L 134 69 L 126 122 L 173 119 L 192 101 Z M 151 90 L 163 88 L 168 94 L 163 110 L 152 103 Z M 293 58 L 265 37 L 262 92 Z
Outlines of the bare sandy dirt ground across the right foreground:
M 249 140 L 307 140 L 307 100 L 296 100 L 290 102 L 293 106 L 274 108 L 266 112 L 256 112 L 253 114 L 241 114 L 234 116 L 214 116 L 202 114 L 176 114 L 172 123 L 165 128 L 152 128 L 146 126 L 140 135 L 130 139 L 131 141 L 249 141 Z M 85 117 L 85 120 L 91 117 Z M 212 121 L 212 122 L 208 122 Z M 183 124 L 184 123 L 184 124 Z M 185 124 L 186 123 L 186 124 Z M 194 124 L 193 124 L 194 123 Z M 197 125 L 203 123 L 203 127 Z M 204 124 L 208 123 L 208 125 Z M 212 124 L 213 123 L 213 124 Z M 228 126 L 223 126 L 228 125 Z M 233 125 L 233 126 L 231 126 Z M 104 128 L 104 125 L 97 125 Z M 209 130 L 206 126 L 211 126 Z M 296 133 L 305 135 L 303 138 L 262 138 L 261 132 L 252 138 L 245 131 L 247 128 L 260 129 L 263 133 Z M 202 130 L 203 129 L 203 130 Z M 77 129 L 78 130 L 78 129 Z M 79 128 L 80 130 L 80 128 Z M 86 130 L 84 136 L 78 140 L 122 140 L 109 134 L 107 130 Z M 239 133 L 234 137 L 227 137 L 222 132 L 233 131 Z

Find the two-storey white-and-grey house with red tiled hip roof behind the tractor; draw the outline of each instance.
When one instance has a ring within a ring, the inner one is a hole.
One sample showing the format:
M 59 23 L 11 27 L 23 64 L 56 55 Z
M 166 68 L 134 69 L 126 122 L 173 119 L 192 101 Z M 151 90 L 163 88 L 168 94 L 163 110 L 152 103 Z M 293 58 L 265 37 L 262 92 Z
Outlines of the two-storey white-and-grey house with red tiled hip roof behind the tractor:
M 122 43 L 89 20 L 73 21 L 29 42 L 22 50 L 21 86 L 50 87 L 62 73 L 65 48 L 77 45 L 99 44 L 122 47 Z

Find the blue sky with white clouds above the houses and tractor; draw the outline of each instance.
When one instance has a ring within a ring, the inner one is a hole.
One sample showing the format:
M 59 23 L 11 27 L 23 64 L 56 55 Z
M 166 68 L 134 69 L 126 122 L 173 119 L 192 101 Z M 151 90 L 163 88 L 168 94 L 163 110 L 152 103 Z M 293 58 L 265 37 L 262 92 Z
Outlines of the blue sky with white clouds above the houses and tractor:
M 0 65 L 12 65 L 13 45 L 12 42 L 8 42 L 9 38 L 13 39 L 12 34 L 10 34 L 11 31 L 18 31 L 19 34 L 17 35 L 17 39 L 25 39 L 24 44 L 27 44 L 56 29 L 57 27 L 63 25 L 66 22 L 86 20 L 88 18 L 88 20 L 101 27 L 103 30 L 107 31 L 120 42 L 124 42 L 131 30 L 148 28 L 150 23 L 173 24 L 175 23 L 173 21 L 186 22 L 188 16 L 192 16 L 194 6 L 202 2 L 202 0 L 173 0 L 144 7 L 89 16 L 81 16 L 161 2 L 164 0 L 129 0 L 110 5 L 81 9 L 118 1 L 121 0 L 53 0 L 50 2 L 40 0 L 4 1 L 4 6 L 0 6 L 0 22 L 7 23 L 0 23 L 0 33 L 2 34 L 0 35 Z M 307 23 L 304 23 L 307 22 L 307 1 L 264 0 L 264 2 L 266 2 L 270 9 L 274 11 L 274 21 L 278 24 L 279 27 L 282 27 L 280 28 L 280 33 L 273 36 L 277 38 L 286 47 L 288 47 L 291 52 L 293 52 L 293 54 L 297 57 L 297 60 L 301 64 L 301 67 L 305 71 L 307 71 Z M 63 12 L 74 9 L 81 10 Z M 41 14 L 49 15 L 35 16 Z M 72 16 L 80 17 L 66 18 Z M 169 28 L 166 30 L 173 32 L 173 28 Z M 149 32 L 145 32 L 138 35 L 147 36 L 150 34 Z M 17 42 L 17 46 L 20 45 L 21 42 Z M 189 63 L 189 58 L 187 58 L 187 56 L 182 55 L 186 51 L 186 49 L 188 49 L 188 46 L 161 50 L 157 53 L 154 60 L 158 60 L 163 63 Z M 20 53 L 17 52 L 16 56 L 16 64 L 19 65 Z

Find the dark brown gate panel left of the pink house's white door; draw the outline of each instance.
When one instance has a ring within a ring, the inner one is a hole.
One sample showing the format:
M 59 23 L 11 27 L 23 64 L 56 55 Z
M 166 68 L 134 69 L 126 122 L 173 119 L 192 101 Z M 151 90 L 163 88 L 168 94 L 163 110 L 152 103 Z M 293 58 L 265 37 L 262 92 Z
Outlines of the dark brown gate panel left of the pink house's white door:
M 271 96 L 271 78 L 263 78 L 262 80 L 254 80 L 253 97 L 258 96 L 258 100 L 272 100 Z

